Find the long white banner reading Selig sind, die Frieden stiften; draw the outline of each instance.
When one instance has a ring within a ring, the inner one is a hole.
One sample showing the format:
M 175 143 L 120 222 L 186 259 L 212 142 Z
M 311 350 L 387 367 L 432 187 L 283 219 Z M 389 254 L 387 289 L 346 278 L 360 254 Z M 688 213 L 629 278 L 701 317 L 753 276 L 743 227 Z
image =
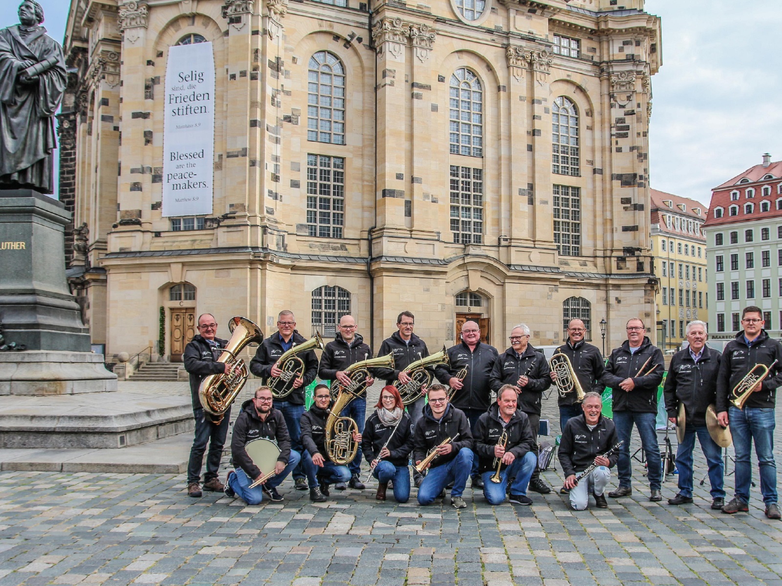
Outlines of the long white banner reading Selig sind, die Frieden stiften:
M 214 56 L 212 44 L 168 49 L 163 116 L 163 216 L 212 213 Z

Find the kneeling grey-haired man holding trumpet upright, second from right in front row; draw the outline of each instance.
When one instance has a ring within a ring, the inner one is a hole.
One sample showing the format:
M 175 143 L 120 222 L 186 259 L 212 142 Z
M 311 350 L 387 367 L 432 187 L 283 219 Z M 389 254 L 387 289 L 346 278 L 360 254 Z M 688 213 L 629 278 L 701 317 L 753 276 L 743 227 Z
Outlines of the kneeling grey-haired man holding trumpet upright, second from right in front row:
M 508 479 L 511 480 L 511 502 L 532 505 L 527 485 L 535 471 L 537 458 L 533 452 L 535 436 L 527 414 L 517 409 L 518 390 L 504 384 L 497 391 L 497 402 L 475 423 L 475 451 L 478 470 L 483 480 L 483 496 L 490 505 L 505 502 Z M 497 478 L 500 466 L 500 481 Z

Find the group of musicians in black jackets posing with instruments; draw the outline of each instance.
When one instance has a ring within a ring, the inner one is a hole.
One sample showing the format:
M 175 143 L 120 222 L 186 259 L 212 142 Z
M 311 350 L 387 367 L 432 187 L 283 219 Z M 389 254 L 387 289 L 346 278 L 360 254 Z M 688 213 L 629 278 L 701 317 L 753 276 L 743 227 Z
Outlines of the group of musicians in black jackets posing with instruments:
M 686 414 L 687 423 L 676 452 L 679 491 L 668 502 L 693 502 L 693 450 L 697 435 L 708 463 L 712 509 L 721 509 L 723 513 L 748 511 L 750 451 L 754 441 L 766 516 L 780 519 L 772 448 L 775 395 L 782 385 L 782 345 L 766 334 L 758 307 L 745 308 L 741 324 L 742 331 L 720 354 L 706 345 L 708 332 L 704 322 L 688 323 L 688 346 L 671 360 L 664 387 L 665 410 L 673 422 Z M 264 498 L 281 501 L 277 487 L 292 473 L 294 488 L 309 490 L 313 502 L 325 502 L 332 484 L 336 490 L 344 490 L 348 485 L 365 488 L 360 477 L 362 457 L 378 481 L 375 498 L 380 501 L 386 500 L 389 484 L 393 484 L 396 502 L 407 502 L 411 493 L 410 463 L 421 505 L 444 497 L 450 488 L 451 504 L 464 508 L 462 494 L 468 478 L 473 489 L 482 488 L 491 505 L 500 505 L 506 498 L 518 505 L 531 505 L 528 491 L 551 492 L 551 487 L 540 478 L 536 438 L 543 391 L 552 383 L 557 384 L 563 375 L 529 343 L 529 327 L 514 327 L 509 335 L 510 347 L 500 354 L 480 341 L 477 323 L 465 322 L 461 343 L 447 350 L 447 363 L 443 361 L 430 369 L 439 384 L 428 384 L 418 398 L 407 401 L 405 406 L 398 388 L 411 382 L 408 366 L 429 356 L 425 342 L 413 333 L 414 325 L 412 313 L 400 313 L 397 331 L 382 343 L 378 356 L 392 353 L 393 368 L 369 370 L 368 384 L 379 378 L 386 381 L 386 386 L 366 422 L 364 396 L 353 398 L 339 413 L 354 420 L 357 429 L 363 429 L 363 433 L 352 432 L 352 440 L 361 445 L 352 461 L 344 465 L 328 456 L 327 420 L 334 400 L 326 384 L 314 388 L 314 403 L 307 412 L 304 410 L 304 389 L 316 375 L 332 384 L 348 385 L 348 368 L 372 356 L 371 348 L 357 333 L 353 316 L 343 316 L 334 341 L 325 345 L 320 363 L 311 349 L 299 355 L 304 368 L 293 381 L 289 395 L 278 400 L 272 397 L 269 387 L 260 386 L 253 398 L 242 404 L 231 441 L 236 468 L 222 484 L 217 470 L 230 408 L 221 421 L 215 422 L 204 412 L 198 390 L 204 377 L 230 373 L 232 367 L 217 361 L 220 348 L 226 344 L 216 337 L 217 321 L 209 313 L 199 316 L 199 334 L 185 349 L 185 369 L 190 373 L 195 413 L 188 495 L 201 496 L 203 486 L 206 491 L 238 495 L 251 504 Z M 279 314 L 277 330 L 260 344 L 249 365 L 250 372 L 264 378 L 267 384 L 282 374 L 280 357 L 293 345 L 305 342 L 296 331 L 296 320 L 290 311 Z M 565 477 L 560 492 L 569 495 L 574 510 L 586 509 L 590 495 L 595 506 L 605 508 L 608 502 L 604 489 L 611 477 L 610 469 L 617 466 L 619 486 L 608 496 L 632 495 L 630 434 L 635 425 L 646 456 L 649 500 L 661 501 L 662 463 L 655 423 L 657 390 L 665 370 L 662 352 L 651 344 L 643 320 L 637 318 L 626 323 L 627 339 L 607 361 L 598 348 L 584 340 L 586 333 L 582 320 L 571 320 L 565 343 L 554 351 L 567 357 L 581 391 L 558 393 L 558 457 Z M 768 369 L 765 376 L 752 378 L 756 365 Z M 742 381 L 748 380 L 750 384 L 744 384 L 748 396 L 738 405 L 733 393 Z M 612 389 L 612 419 L 601 414 L 601 392 L 606 386 Z M 496 393 L 495 401 L 492 392 Z M 716 410 L 720 426 L 730 426 L 734 443 L 735 494 L 727 503 L 723 455 L 706 425 L 709 408 Z M 274 473 L 259 486 L 253 484 L 258 484 L 260 470 L 245 450 L 247 442 L 256 438 L 270 439 L 279 448 Z M 201 466 L 207 445 L 202 485 Z

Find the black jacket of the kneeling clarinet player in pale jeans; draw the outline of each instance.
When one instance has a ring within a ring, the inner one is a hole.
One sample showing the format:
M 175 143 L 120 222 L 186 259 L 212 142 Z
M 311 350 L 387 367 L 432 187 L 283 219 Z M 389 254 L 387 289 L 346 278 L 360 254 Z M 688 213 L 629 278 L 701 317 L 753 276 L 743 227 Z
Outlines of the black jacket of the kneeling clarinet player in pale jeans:
M 600 416 L 594 430 L 587 427 L 583 415 L 571 417 L 562 431 L 559 441 L 559 463 L 565 478 L 587 470 L 597 456 L 602 456 L 612 448 L 619 438 L 616 435 L 614 422 L 608 417 Z M 608 467 L 612 468 L 619 459 L 619 450 L 608 456 Z

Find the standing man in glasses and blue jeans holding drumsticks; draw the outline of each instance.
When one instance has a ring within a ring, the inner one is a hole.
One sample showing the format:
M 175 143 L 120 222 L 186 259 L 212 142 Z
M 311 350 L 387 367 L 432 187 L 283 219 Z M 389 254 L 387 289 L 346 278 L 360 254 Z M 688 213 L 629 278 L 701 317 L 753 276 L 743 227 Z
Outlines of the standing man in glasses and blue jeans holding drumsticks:
M 665 362 L 660 348 L 651 344 L 644 322 L 633 317 L 626 325 L 627 340 L 611 352 L 605 367 L 603 383 L 612 388 L 614 424 L 619 439 L 619 487 L 608 493 L 611 498 L 633 494 L 630 484 L 630 432 L 633 423 L 638 428 L 641 445 L 646 452 L 651 502 L 662 501 L 662 463 L 657 445 L 657 388 L 662 381 Z

